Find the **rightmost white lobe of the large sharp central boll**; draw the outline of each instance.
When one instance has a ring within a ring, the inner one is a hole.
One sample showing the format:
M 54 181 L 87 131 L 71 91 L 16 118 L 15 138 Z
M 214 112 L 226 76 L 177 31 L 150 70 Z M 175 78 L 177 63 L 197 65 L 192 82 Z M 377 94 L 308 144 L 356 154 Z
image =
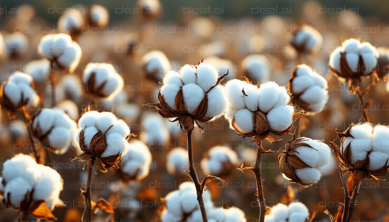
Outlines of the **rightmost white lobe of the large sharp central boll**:
M 207 93 L 208 106 L 205 115 L 218 117 L 222 115 L 228 107 L 229 101 L 226 94 L 226 89 L 223 86 L 215 86 Z

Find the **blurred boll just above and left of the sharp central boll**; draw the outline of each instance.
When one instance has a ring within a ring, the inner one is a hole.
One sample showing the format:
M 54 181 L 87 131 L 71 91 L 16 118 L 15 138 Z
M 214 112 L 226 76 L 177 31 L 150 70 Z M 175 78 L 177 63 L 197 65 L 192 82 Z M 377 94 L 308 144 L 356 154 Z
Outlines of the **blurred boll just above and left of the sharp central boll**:
M 141 60 L 146 77 L 155 81 L 162 81 L 163 75 L 172 69 L 169 59 L 161 51 L 151 51 L 144 54 Z

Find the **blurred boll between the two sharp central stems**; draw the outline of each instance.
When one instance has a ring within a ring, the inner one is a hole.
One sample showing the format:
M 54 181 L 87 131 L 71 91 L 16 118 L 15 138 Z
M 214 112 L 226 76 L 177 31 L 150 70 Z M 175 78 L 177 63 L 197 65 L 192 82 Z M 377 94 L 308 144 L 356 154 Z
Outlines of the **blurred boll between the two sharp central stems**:
M 238 165 L 238 154 L 224 146 L 215 146 L 208 151 L 208 157 L 202 159 L 201 163 L 205 175 L 224 177 L 235 170 Z

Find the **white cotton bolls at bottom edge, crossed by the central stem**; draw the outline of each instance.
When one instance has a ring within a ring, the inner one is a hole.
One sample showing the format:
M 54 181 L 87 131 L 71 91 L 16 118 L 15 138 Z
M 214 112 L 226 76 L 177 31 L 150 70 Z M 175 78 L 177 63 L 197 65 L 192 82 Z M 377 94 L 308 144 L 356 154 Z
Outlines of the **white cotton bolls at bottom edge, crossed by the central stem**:
M 162 222 L 203 221 L 192 182 L 180 184 L 177 191 L 168 193 L 164 199 L 166 208 L 161 213 Z M 239 208 L 214 208 L 209 190 L 204 191 L 203 200 L 209 222 L 246 222 L 245 214 Z

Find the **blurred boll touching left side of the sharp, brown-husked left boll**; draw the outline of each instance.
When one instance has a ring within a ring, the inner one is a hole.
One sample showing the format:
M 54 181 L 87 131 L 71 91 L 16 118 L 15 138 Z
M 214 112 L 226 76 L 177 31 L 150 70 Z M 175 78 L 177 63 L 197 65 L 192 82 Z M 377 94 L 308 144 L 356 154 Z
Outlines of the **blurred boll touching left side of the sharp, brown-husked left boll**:
M 59 108 L 44 108 L 32 119 L 33 135 L 58 154 L 65 153 L 77 132 L 77 123 Z

